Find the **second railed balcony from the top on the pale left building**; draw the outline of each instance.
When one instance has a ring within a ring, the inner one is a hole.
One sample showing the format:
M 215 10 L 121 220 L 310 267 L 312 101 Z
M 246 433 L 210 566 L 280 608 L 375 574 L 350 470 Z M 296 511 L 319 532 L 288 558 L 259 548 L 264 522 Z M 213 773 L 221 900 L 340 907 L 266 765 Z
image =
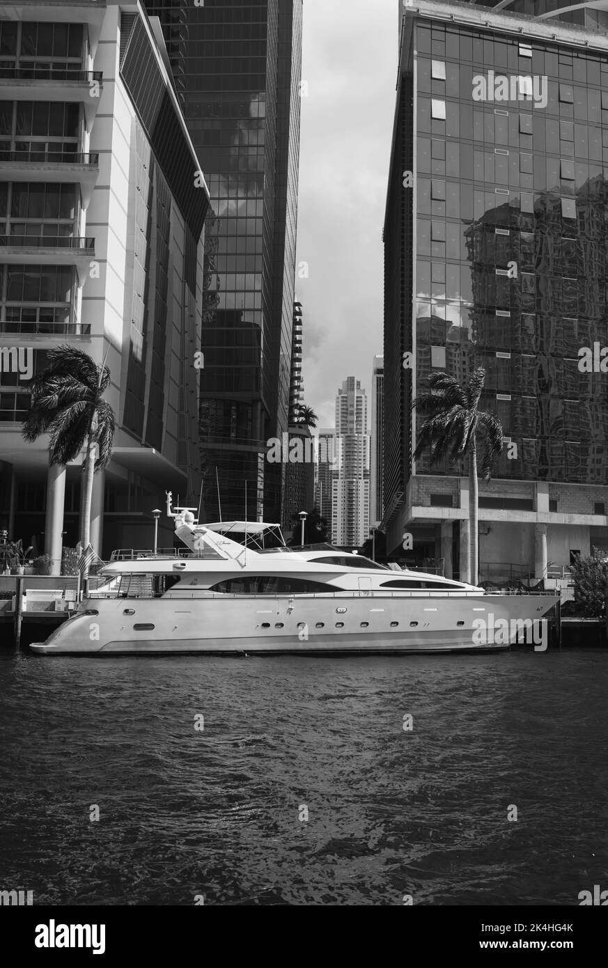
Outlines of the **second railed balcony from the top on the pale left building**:
M 0 181 L 78 184 L 84 208 L 88 208 L 98 176 L 99 152 L 5 151 L 0 146 Z

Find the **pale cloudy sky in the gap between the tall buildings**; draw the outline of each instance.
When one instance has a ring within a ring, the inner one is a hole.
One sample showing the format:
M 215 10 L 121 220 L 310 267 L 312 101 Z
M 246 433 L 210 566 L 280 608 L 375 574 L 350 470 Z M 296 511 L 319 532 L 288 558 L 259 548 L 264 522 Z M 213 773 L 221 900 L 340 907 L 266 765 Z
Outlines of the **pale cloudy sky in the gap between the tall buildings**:
M 297 262 L 304 402 L 333 427 L 347 377 L 370 394 L 382 352 L 382 224 L 398 0 L 304 0 Z M 369 412 L 369 411 L 368 411 Z

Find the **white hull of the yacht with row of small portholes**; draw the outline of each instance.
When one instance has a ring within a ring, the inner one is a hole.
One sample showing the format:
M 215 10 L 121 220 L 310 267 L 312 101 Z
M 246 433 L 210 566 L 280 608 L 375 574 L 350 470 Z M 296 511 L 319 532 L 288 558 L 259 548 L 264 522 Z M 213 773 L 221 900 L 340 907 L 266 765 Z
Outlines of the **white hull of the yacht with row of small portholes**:
M 40 654 L 403 654 L 547 648 L 551 595 L 89 598 Z

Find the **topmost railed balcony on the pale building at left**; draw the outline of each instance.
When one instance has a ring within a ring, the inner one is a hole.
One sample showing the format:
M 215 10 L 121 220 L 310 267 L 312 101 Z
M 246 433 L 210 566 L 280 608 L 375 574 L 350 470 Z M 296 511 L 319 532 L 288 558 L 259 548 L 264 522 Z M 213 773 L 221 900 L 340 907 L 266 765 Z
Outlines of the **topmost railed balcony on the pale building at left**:
M 91 130 L 104 90 L 101 71 L 81 71 L 65 64 L 15 67 L 0 63 L 0 101 L 61 101 L 84 105 Z

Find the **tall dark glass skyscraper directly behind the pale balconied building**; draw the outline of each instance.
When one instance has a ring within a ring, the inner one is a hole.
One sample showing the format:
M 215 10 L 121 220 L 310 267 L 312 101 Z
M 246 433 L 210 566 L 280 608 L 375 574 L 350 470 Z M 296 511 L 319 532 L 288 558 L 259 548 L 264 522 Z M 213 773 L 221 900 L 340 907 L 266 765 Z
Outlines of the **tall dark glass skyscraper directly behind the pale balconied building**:
M 146 0 L 158 15 L 214 217 L 200 373 L 203 515 L 281 520 L 289 425 L 302 0 Z M 177 11 L 185 11 L 180 19 Z M 179 69 L 179 70 L 178 70 Z M 178 73 L 177 73 L 178 72 Z

